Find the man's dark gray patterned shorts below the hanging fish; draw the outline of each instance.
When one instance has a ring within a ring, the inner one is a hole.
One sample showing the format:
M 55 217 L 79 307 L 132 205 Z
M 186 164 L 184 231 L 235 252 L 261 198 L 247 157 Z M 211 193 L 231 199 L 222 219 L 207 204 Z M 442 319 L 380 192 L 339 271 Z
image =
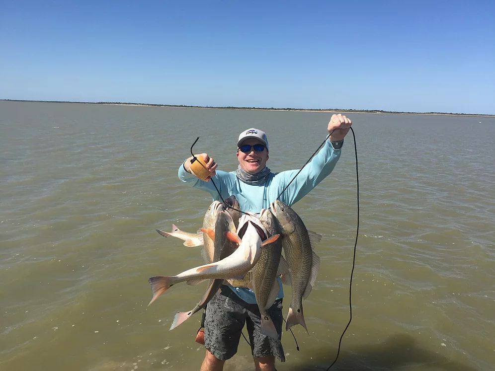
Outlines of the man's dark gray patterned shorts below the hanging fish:
M 278 339 L 261 334 L 261 315 L 257 304 L 248 304 L 226 286 L 222 286 L 206 307 L 205 347 L 219 360 L 234 357 L 239 346 L 244 324 L 249 334 L 253 357 L 275 356 L 285 362 L 282 336 L 282 299 L 277 299 L 268 309 Z

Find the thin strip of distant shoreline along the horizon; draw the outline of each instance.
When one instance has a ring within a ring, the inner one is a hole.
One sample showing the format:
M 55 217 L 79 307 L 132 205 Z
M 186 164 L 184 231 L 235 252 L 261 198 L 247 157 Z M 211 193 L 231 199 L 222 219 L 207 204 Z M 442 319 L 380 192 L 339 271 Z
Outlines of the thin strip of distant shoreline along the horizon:
M 341 113 L 374 113 L 374 114 L 402 114 L 402 115 L 437 115 L 437 116 L 471 116 L 471 117 L 495 117 L 481 113 L 447 113 L 447 112 L 400 112 L 382 110 L 354 110 L 337 108 L 263 108 L 263 107 L 213 107 L 213 106 L 187 106 L 175 104 L 148 104 L 148 103 L 123 103 L 123 102 L 70 102 L 60 100 L 23 100 L 23 99 L 0 99 L 7 102 L 42 102 L 42 103 L 79 103 L 79 104 L 105 104 L 115 106 L 141 106 L 141 107 L 175 107 L 175 108 L 214 108 L 214 109 L 238 109 L 252 111 L 294 111 L 294 112 L 341 112 Z

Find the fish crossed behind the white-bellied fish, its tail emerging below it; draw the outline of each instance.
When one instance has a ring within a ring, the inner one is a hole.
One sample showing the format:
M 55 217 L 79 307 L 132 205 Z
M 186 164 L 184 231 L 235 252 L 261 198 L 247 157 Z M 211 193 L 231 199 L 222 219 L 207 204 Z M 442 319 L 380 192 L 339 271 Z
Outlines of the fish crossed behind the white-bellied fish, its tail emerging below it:
M 225 232 L 236 232 L 236 226 L 234 225 L 234 221 L 230 214 L 220 211 L 217 214 L 215 220 L 215 229 L 204 230 L 205 233 L 209 235 L 211 239 L 214 240 L 214 255 L 213 262 L 217 262 L 222 260 L 232 254 L 234 250 L 237 248 L 237 243 L 228 239 L 225 235 Z M 203 229 L 203 228 L 201 228 Z M 178 312 L 175 314 L 172 324 L 170 326 L 170 330 L 174 329 L 185 320 L 187 320 L 194 313 L 198 312 L 203 308 L 218 292 L 220 286 L 222 286 L 224 280 L 223 279 L 213 279 L 210 281 L 206 292 L 204 293 L 201 300 L 189 311 L 186 312 Z

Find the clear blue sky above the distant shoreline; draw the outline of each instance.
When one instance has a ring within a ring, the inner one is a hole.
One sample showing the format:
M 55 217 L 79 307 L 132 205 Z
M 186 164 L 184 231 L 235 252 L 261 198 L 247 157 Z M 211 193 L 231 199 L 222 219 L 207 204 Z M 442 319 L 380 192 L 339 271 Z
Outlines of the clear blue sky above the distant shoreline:
M 0 99 L 495 114 L 495 0 L 0 0 Z

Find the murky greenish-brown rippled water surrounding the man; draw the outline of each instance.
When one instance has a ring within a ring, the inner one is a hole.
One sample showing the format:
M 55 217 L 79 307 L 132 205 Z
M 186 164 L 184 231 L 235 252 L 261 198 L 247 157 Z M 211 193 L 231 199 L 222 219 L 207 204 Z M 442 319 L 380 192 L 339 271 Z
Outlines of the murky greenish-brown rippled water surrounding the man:
M 352 322 L 332 370 L 493 370 L 495 119 L 349 114 L 359 160 L 360 230 Z M 324 112 L 0 101 L 0 369 L 197 370 L 201 313 L 169 331 L 206 284 L 153 305 L 148 277 L 201 264 L 199 248 L 155 228 L 195 231 L 211 203 L 178 181 L 195 149 L 221 169 L 266 131 L 268 166 L 301 167 Z M 349 320 L 356 237 L 354 143 L 294 205 L 323 235 L 318 283 L 280 370 L 326 370 Z M 289 306 L 286 288 L 284 315 Z M 225 370 L 253 370 L 250 348 Z

